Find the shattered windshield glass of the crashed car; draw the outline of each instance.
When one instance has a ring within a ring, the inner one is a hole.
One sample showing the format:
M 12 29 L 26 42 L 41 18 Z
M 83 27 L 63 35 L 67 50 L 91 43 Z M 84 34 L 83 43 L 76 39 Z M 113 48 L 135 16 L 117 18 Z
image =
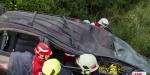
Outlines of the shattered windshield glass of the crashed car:
M 114 46 L 116 50 L 116 56 L 118 59 L 138 66 L 146 72 L 150 72 L 150 63 L 148 63 L 148 59 L 138 54 L 126 42 L 119 39 L 118 37 L 114 37 Z

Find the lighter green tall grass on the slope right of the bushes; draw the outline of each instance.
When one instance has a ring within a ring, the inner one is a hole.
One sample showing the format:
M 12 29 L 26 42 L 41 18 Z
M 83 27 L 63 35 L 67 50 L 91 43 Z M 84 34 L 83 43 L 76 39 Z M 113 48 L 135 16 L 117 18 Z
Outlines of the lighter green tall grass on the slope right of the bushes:
M 150 58 L 150 18 L 147 17 L 149 12 L 150 5 L 140 2 L 134 10 L 126 12 L 125 15 L 114 15 L 111 29 L 138 53 Z

